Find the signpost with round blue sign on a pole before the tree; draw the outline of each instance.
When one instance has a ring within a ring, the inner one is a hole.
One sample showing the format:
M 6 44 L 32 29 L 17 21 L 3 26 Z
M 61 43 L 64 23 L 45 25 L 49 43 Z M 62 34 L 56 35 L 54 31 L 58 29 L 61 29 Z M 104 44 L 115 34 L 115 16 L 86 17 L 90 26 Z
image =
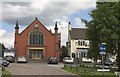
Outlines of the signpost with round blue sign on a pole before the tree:
M 106 54 L 106 43 L 101 43 L 101 45 L 99 46 L 100 49 L 100 54 L 102 55 L 102 75 L 104 76 L 104 55 Z

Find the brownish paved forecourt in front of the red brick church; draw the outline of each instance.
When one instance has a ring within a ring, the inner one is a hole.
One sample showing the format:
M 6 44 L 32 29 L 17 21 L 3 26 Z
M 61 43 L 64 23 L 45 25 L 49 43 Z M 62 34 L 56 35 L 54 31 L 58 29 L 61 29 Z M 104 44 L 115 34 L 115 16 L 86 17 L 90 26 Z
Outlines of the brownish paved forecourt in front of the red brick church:
M 12 63 L 6 69 L 12 75 L 74 75 L 61 69 L 63 64 L 50 65 L 47 63 Z

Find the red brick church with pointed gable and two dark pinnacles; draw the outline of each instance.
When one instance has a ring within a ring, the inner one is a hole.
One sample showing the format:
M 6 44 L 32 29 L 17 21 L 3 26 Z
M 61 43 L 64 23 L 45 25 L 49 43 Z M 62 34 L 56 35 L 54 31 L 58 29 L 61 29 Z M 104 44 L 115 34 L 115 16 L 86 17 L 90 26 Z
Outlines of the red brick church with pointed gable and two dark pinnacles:
M 21 33 L 18 21 L 15 26 L 16 57 L 48 59 L 60 56 L 60 33 L 55 22 L 55 33 L 48 30 L 37 18 Z

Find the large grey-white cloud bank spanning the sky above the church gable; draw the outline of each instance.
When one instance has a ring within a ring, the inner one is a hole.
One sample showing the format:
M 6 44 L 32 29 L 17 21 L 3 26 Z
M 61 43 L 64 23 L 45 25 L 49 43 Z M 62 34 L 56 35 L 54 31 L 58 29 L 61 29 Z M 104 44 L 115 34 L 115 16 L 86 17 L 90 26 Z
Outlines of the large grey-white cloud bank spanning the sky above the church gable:
M 95 2 L 4 2 L 2 5 L 3 21 L 14 24 L 18 19 L 21 25 L 28 25 L 36 17 L 46 25 L 64 15 L 95 7 Z

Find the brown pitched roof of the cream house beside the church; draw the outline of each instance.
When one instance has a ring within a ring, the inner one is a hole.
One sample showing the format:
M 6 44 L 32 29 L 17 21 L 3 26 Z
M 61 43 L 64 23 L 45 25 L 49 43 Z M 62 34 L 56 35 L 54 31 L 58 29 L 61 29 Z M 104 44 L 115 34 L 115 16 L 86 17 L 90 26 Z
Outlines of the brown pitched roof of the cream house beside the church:
M 69 31 L 71 39 L 87 39 L 86 29 L 82 28 L 71 28 Z

